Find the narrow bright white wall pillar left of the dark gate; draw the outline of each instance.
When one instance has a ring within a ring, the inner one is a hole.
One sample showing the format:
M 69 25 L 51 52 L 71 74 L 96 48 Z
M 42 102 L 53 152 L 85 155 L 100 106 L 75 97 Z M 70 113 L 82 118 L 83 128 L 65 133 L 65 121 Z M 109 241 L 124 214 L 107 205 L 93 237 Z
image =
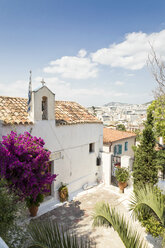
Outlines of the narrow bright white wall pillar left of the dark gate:
M 105 185 L 111 184 L 111 163 L 112 163 L 112 153 L 102 153 L 102 170 L 103 170 L 103 180 Z

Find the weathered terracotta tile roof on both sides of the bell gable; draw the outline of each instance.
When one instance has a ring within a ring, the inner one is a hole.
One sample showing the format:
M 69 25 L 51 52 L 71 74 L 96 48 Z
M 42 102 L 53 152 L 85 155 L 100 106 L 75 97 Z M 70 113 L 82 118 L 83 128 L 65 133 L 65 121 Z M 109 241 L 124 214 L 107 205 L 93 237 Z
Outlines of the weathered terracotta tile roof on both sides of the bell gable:
M 57 125 L 102 123 L 76 102 L 55 101 Z M 27 99 L 0 96 L 0 120 L 4 124 L 32 124 L 27 113 Z

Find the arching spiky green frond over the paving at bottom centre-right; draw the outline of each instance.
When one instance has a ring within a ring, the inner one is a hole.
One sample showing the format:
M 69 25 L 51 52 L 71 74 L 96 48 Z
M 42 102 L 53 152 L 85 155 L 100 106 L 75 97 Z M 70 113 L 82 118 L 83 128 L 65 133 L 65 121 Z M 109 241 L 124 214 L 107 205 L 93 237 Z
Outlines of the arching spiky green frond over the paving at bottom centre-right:
M 126 248 L 147 248 L 145 240 L 141 238 L 140 233 L 134 230 L 133 225 L 119 214 L 108 203 L 97 203 L 93 214 L 93 226 L 113 227 L 120 236 Z

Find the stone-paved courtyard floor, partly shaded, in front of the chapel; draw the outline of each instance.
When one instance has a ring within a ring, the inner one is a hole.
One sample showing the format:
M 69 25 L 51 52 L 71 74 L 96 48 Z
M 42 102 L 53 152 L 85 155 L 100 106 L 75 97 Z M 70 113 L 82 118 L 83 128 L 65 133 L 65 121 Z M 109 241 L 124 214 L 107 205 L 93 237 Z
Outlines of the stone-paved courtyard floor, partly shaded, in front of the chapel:
M 118 189 L 115 189 L 118 192 Z M 105 201 L 114 206 L 120 212 L 129 215 L 122 196 L 114 193 L 114 190 L 97 186 L 85 191 L 74 198 L 73 201 L 65 203 L 37 219 L 51 219 L 58 224 L 69 228 L 72 232 L 81 237 L 88 237 L 92 240 L 92 247 L 96 248 L 124 248 L 118 234 L 113 228 L 92 227 L 92 212 L 96 202 Z M 153 247 L 153 246 L 150 246 Z M 157 247 L 157 246 L 154 246 Z

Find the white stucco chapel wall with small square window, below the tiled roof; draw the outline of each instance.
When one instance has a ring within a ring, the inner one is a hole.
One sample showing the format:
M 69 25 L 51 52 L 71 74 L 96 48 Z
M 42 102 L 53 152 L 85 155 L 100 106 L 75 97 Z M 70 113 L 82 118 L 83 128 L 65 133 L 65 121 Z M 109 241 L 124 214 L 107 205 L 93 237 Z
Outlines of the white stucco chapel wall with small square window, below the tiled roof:
M 69 193 L 72 193 L 101 177 L 96 158 L 103 146 L 102 124 L 56 126 L 53 120 L 43 120 L 34 125 L 0 126 L 1 135 L 7 135 L 11 130 L 18 133 L 28 131 L 33 136 L 43 138 L 45 147 L 55 154 L 52 172 L 58 174 L 58 177 L 52 186 L 52 195 L 56 199 L 61 182 L 67 183 Z M 95 143 L 92 153 L 89 153 L 90 143 Z

